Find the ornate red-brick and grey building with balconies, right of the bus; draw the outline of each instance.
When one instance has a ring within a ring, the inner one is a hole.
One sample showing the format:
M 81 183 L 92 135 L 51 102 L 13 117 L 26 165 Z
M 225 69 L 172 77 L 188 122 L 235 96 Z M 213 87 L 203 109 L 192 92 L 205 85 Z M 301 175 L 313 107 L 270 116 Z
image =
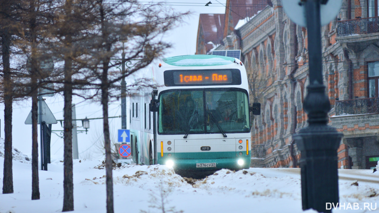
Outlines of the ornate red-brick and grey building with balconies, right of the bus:
M 249 13 L 237 12 L 243 4 Z M 339 168 L 370 169 L 379 160 L 378 11 L 379 0 L 343 0 L 321 30 L 329 125 L 344 134 Z M 213 50 L 241 50 L 251 101 L 262 104 L 252 121 L 252 166 L 298 166 L 292 134 L 307 125 L 307 42 L 306 28 L 287 17 L 280 0 L 227 0 L 223 38 Z

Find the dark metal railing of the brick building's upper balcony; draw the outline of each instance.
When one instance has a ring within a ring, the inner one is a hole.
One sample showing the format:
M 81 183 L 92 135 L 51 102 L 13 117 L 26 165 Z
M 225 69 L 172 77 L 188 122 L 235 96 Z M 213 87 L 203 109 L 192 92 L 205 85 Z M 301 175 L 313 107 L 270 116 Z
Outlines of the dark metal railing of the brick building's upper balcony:
M 337 21 L 337 36 L 379 32 L 379 17 Z

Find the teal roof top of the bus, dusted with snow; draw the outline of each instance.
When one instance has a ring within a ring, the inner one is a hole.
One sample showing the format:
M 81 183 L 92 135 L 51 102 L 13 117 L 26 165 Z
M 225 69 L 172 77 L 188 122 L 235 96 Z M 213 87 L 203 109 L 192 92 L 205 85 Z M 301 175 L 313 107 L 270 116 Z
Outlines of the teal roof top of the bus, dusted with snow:
M 235 58 L 218 55 L 181 55 L 163 58 L 163 62 L 172 66 L 218 66 L 236 63 Z

